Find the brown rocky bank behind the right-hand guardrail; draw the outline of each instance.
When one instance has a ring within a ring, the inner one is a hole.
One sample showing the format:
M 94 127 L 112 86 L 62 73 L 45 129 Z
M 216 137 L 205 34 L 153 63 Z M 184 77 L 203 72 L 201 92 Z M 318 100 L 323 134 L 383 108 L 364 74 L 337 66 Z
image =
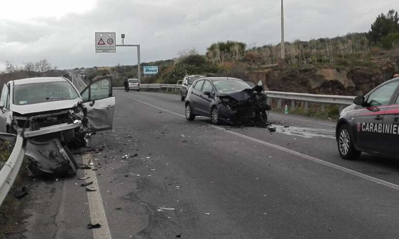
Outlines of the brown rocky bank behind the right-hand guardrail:
M 308 65 L 248 71 L 249 80 L 261 80 L 267 90 L 314 94 L 362 95 L 399 71 L 399 51 L 359 59 L 351 66 Z

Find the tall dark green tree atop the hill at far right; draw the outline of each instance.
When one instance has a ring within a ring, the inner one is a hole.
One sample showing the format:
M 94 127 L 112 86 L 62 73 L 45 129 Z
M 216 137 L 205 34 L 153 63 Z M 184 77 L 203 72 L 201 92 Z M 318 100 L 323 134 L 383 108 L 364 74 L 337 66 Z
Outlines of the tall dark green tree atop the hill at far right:
M 399 32 L 399 16 L 394 9 L 388 11 L 388 14 L 381 13 L 377 19 L 371 24 L 369 31 L 369 38 L 373 42 L 379 42 L 383 37 L 390 33 Z

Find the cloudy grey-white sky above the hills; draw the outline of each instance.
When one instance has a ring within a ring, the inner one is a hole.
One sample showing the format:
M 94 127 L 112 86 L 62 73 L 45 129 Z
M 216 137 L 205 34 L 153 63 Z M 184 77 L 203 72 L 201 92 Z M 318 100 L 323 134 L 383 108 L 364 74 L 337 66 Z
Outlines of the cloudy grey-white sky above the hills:
M 398 0 L 284 0 L 285 39 L 309 40 L 365 32 Z M 249 46 L 280 39 L 280 0 L 2 0 L 0 70 L 47 58 L 61 69 L 136 64 L 136 49 L 95 53 L 95 32 L 126 35 L 141 45 L 141 61 L 206 51 L 211 43 Z

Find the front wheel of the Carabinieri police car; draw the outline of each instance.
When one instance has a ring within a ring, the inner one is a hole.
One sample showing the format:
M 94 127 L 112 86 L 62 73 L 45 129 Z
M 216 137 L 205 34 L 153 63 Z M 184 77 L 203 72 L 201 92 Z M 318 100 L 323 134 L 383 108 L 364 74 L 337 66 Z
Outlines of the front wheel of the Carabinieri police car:
M 360 157 L 361 152 L 355 149 L 353 138 L 349 133 L 349 126 L 342 125 L 338 134 L 338 151 L 342 159 L 355 160 Z

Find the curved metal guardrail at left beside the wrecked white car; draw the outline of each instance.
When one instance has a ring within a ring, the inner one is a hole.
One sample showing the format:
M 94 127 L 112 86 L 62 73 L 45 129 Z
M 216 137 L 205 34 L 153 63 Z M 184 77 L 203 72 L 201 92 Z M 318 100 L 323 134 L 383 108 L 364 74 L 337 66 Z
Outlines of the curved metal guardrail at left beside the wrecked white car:
M 1 139 L 7 141 L 15 140 L 13 151 L 8 158 L 5 165 L 0 170 L 0 206 L 3 203 L 5 197 L 10 191 L 15 179 L 17 178 L 18 172 L 25 156 L 25 149 L 23 146 L 23 138 L 18 135 L 0 134 Z

